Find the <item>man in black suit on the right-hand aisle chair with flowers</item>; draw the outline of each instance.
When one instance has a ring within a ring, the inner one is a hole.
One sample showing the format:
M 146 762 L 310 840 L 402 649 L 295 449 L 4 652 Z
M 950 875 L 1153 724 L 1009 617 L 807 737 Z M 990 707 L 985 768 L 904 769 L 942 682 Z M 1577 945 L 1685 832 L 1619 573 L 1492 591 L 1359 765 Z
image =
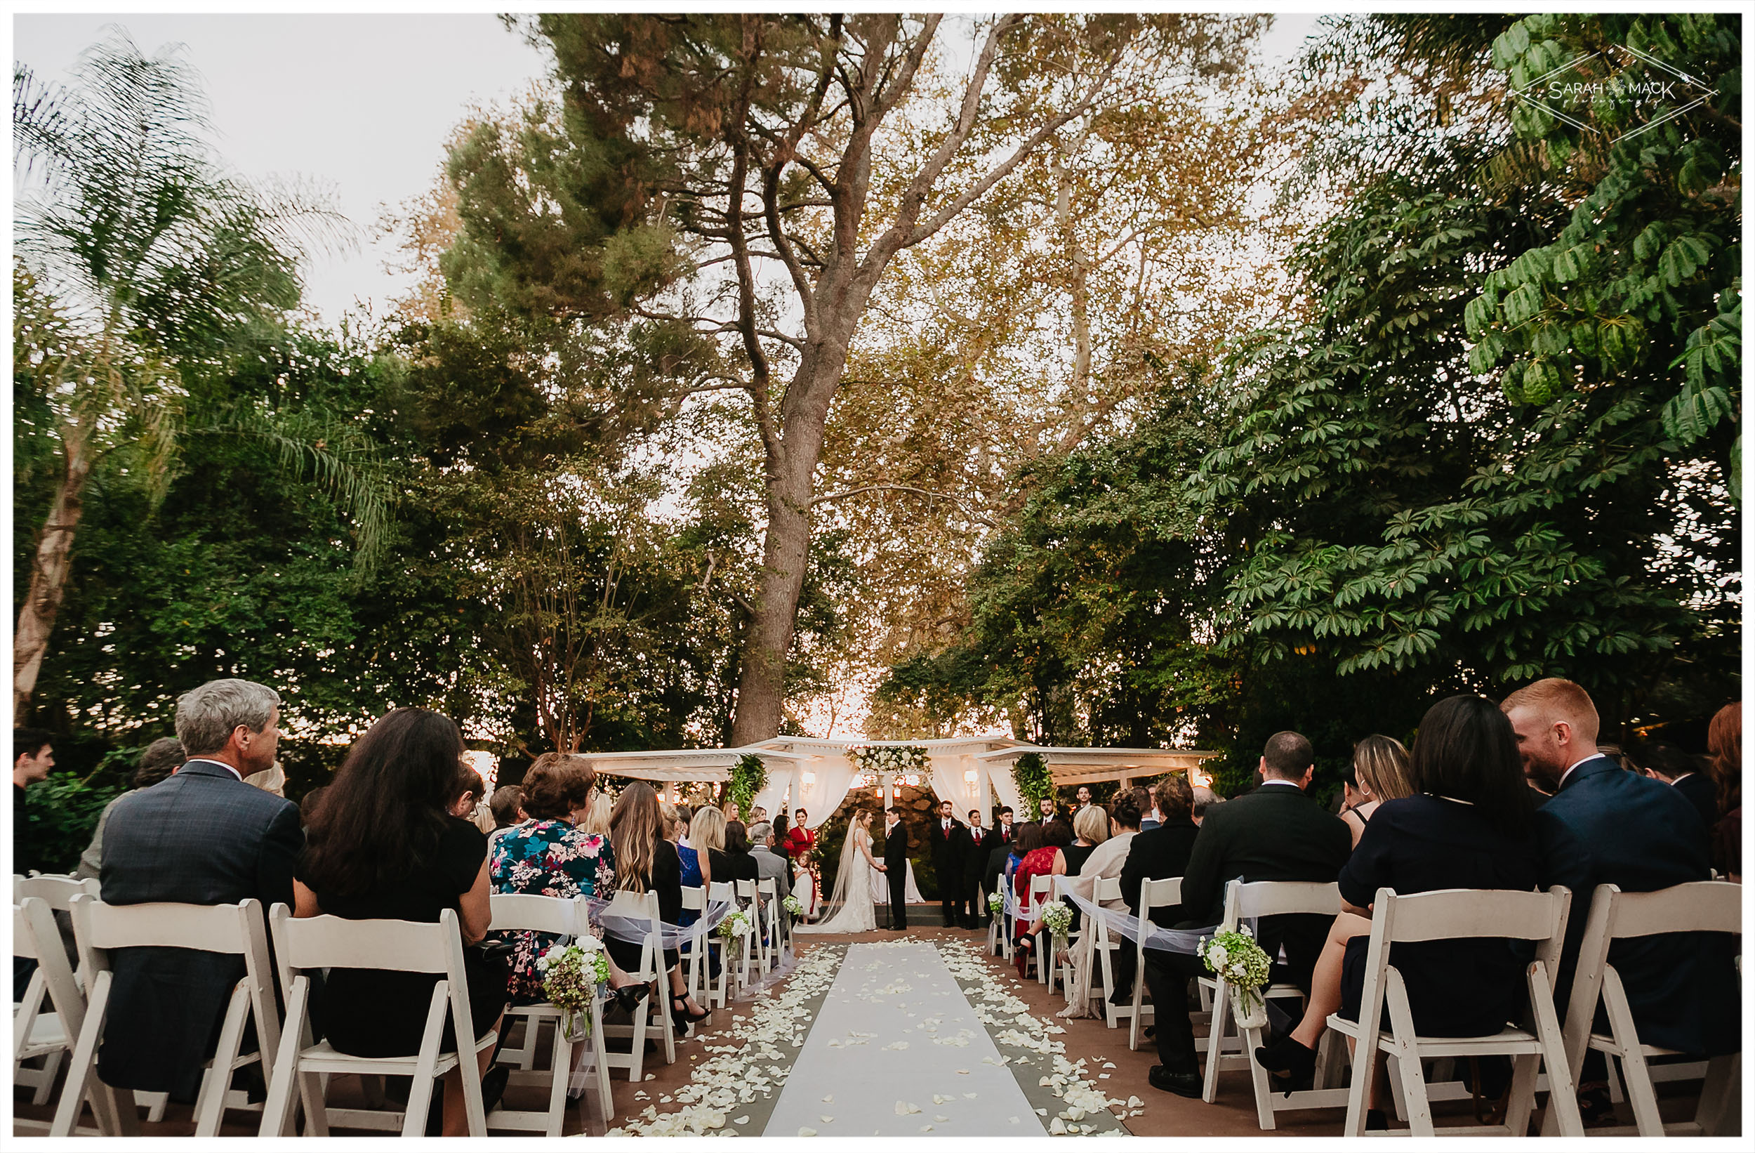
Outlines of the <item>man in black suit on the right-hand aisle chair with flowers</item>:
M 1211 809 L 1183 870 L 1181 928 L 1216 925 L 1225 913 L 1225 883 L 1332 881 L 1353 851 L 1346 821 L 1323 813 L 1306 795 L 1316 769 L 1311 742 L 1295 732 L 1267 739 L 1255 791 Z M 1135 839 L 1137 841 L 1137 839 Z M 1286 953 L 1286 979 L 1307 990 L 1330 918 L 1267 916 L 1257 927 L 1269 956 Z M 1188 953 L 1146 951 L 1146 988 L 1157 1009 L 1158 1062 L 1148 1083 L 1179 1097 L 1200 1095 L 1195 1035 L 1188 1021 L 1188 978 L 1206 972 Z

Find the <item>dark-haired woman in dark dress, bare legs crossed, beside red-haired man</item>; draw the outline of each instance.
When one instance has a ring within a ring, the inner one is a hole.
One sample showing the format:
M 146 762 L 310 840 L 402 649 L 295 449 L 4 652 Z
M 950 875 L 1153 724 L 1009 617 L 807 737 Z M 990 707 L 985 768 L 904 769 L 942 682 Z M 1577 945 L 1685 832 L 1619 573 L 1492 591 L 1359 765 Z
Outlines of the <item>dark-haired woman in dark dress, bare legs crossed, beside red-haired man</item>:
M 1378 749 L 1379 767 L 1395 763 L 1399 746 L 1388 748 L 1393 742 L 1386 737 L 1379 741 L 1386 742 Z M 1393 772 L 1402 772 L 1399 763 Z M 1390 788 L 1381 776 L 1376 783 Z M 1371 904 L 1379 888 L 1393 888 L 1397 895 L 1536 888 L 1536 837 L 1523 763 L 1511 723 L 1492 700 L 1450 697 L 1427 709 L 1406 777 L 1393 788 L 1402 786 L 1409 791 L 1378 804 L 1358 848 L 1341 869 L 1343 913 L 1311 976 L 1302 1021 L 1255 1051 L 1257 1063 L 1290 1079 L 1293 1088 L 1316 1067 L 1316 1041 L 1329 1014 L 1339 1011 L 1350 1021 L 1358 1020 Z M 1523 965 L 1504 939 L 1402 942 L 1390 951 L 1390 962 L 1402 974 L 1422 1035 L 1485 1037 L 1522 1011 Z M 1372 1109 L 1383 1107 L 1388 1079 L 1379 1081 L 1372 1086 Z

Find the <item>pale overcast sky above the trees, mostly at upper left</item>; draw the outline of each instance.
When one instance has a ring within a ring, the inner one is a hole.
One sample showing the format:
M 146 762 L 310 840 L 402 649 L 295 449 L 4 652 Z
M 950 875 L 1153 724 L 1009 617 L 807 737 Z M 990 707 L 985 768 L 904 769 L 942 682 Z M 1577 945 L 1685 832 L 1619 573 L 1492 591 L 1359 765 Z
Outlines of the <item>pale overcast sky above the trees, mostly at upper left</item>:
M 1314 25 L 1286 14 L 1264 42 L 1285 60 Z M 544 54 L 491 14 L 216 16 L 72 14 L 12 19 L 12 54 L 40 79 L 67 79 L 79 54 L 121 25 L 147 54 L 184 44 L 205 81 L 223 160 L 246 177 L 326 184 L 358 226 L 351 254 L 307 269 L 305 300 L 333 323 L 344 309 L 405 290 L 374 242 L 384 205 L 432 186 L 444 140 L 474 105 L 504 102 L 546 70 Z

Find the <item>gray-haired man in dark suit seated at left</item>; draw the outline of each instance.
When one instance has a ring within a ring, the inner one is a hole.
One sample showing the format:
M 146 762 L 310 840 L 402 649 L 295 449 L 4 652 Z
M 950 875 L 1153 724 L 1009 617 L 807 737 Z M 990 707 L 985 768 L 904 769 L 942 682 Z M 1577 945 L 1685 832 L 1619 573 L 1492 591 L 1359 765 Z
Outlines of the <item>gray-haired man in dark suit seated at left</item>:
M 293 904 L 304 849 L 298 806 L 244 777 L 274 765 L 281 698 L 251 681 L 209 681 L 177 698 L 188 760 L 125 795 L 104 821 L 104 904 Z M 244 958 L 197 949 L 111 949 L 98 1076 L 114 1088 L 193 1102 Z

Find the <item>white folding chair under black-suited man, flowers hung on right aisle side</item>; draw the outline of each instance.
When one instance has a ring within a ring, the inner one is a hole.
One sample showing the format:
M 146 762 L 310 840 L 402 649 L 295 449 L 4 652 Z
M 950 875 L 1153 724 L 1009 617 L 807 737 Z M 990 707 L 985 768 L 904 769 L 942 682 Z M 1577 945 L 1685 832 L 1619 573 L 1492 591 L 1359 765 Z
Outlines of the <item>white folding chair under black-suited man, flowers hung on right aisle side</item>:
M 1341 913 L 1341 888 L 1334 881 L 1230 881 L 1225 886 L 1225 916 L 1220 928 L 1234 930 L 1241 921 L 1262 916 L 1286 916 L 1293 913 L 1314 913 L 1336 916 Z M 1200 1097 L 1213 1102 L 1218 1097 L 1218 1074 L 1225 1069 L 1248 1069 L 1255 1086 L 1255 1116 L 1262 1128 L 1274 1128 L 1274 1113 L 1281 1109 L 1322 1109 L 1346 1104 L 1346 1090 L 1318 1085 L 1293 1093 L 1276 1093 L 1267 1079 L 1267 1071 L 1255 1062 L 1255 1049 L 1262 1044 L 1262 1030 L 1257 1027 L 1239 1027 L 1232 1018 L 1230 985 L 1218 976 L 1197 978 L 1213 995 L 1213 1020 L 1207 1027 L 1206 1078 Z M 1297 985 L 1274 983 L 1260 990 L 1264 1000 L 1279 997 L 1297 997 L 1302 1004 L 1304 992 Z M 1228 1051 L 1236 1044 L 1236 1051 Z M 1327 1037 L 1318 1046 L 1316 1067 L 1323 1074 L 1332 1067 Z

